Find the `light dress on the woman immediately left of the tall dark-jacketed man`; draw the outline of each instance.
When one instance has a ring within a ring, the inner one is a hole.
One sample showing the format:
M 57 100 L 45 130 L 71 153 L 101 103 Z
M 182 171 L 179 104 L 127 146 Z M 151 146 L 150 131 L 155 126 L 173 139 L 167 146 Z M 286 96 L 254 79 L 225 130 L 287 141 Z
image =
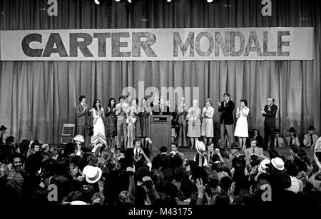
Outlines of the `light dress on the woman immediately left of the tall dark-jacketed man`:
M 202 126 L 200 128 L 200 135 L 208 138 L 214 137 L 214 126 L 213 126 L 213 116 L 214 116 L 214 108 L 212 106 L 206 106 L 202 111 L 203 121 Z

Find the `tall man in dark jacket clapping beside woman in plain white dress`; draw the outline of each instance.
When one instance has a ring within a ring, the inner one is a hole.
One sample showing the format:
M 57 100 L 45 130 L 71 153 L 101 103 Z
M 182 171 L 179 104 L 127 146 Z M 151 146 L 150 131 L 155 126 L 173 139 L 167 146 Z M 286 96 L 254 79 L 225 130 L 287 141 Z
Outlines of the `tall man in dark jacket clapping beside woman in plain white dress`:
M 235 104 L 230 100 L 230 93 L 224 93 L 224 100 L 220 103 L 218 102 L 218 111 L 222 113 L 220 115 L 220 142 L 225 148 L 225 128 L 228 131 L 228 143 L 232 144 L 234 142 L 234 118 L 233 111 Z

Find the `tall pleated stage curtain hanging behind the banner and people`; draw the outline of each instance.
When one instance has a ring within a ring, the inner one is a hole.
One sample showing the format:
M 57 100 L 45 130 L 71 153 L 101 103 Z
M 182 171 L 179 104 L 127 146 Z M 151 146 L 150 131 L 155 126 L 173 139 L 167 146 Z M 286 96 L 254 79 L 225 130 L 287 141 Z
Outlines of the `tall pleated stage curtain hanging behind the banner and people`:
M 87 103 L 121 95 L 123 88 L 199 87 L 200 107 L 213 99 L 215 136 L 218 106 L 229 92 L 239 105 L 248 99 L 249 125 L 263 133 L 260 110 L 267 97 L 279 106 L 277 128 L 304 133 L 321 130 L 319 0 L 272 0 L 272 16 L 262 16 L 260 0 L 58 0 L 58 16 L 48 16 L 46 0 L 1 0 L 0 30 L 224 28 L 313 26 L 314 61 L 0 61 L 0 123 L 11 135 L 58 143 L 63 123 L 75 123 L 78 97 Z M 149 98 L 149 96 L 146 96 Z

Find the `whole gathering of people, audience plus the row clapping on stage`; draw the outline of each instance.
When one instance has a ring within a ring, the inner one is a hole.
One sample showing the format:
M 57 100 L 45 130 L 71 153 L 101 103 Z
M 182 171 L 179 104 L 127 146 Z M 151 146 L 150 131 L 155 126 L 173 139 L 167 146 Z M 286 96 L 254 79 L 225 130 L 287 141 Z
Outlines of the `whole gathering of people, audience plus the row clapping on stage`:
M 302 145 L 293 127 L 282 138 L 275 129 L 277 106 L 268 98 L 262 111 L 264 139 L 258 129 L 248 132 L 245 99 L 236 110 L 233 130 L 235 104 L 229 93 L 223 98 L 218 102 L 222 141 L 217 143 L 210 99 L 201 110 L 198 100 L 189 107 L 181 98 L 172 109 L 158 95 L 151 106 L 146 98 L 138 106 L 137 99 L 129 105 L 121 96 L 117 104 L 110 98 L 104 110 L 98 99 L 89 109 L 81 96 L 78 134 L 62 148 L 27 139 L 16 143 L 1 126 L 0 200 L 47 205 L 320 204 L 321 137 L 315 127 L 308 128 Z M 151 114 L 172 116 L 177 141 L 159 147 L 149 138 Z M 195 148 L 193 158 L 179 150 L 188 146 L 187 138 Z M 263 153 L 267 147 L 268 155 Z M 280 147 L 290 156 L 279 154 L 275 148 Z M 313 159 L 307 148 L 314 150 Z

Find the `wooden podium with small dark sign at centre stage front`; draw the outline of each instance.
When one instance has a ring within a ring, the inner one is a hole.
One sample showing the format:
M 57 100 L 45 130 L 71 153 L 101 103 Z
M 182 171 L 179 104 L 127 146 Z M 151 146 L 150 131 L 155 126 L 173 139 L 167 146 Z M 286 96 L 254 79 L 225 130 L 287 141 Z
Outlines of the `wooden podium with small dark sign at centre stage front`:
M 151 115 L 149 117 L 149 136 L 156 148 L 168 147 L 170 151 L 171 139 L 171 116 Z

